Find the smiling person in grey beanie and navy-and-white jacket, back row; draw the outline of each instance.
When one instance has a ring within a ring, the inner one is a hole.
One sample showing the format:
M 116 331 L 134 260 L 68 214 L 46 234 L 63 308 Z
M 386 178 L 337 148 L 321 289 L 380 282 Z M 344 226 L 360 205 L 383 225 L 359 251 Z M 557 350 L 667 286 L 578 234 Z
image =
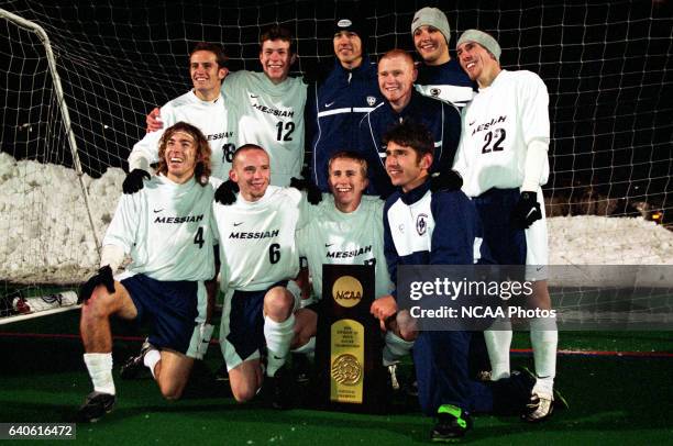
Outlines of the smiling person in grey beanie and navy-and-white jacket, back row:
M 449 54 L 450 31 L 446 15 L 437 8 L 426 7 L 413 14 L 411 36 L 422 58 L 416 89 L 462 110 L 474 96 L 474 82 Z

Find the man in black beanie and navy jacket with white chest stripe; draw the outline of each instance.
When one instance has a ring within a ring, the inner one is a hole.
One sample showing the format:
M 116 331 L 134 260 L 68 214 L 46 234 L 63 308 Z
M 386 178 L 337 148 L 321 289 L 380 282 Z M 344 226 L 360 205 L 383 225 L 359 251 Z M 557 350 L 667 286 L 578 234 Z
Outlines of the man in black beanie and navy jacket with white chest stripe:
M 332 38 L 335 60 L 326 76 L 308 88 L 307 137 L 312 149 L 312 180 L 329 191 L 328 161 L 336 152 L 354 149 L 357 124 L 383 100 L 376 64 L 369 60 L 364 19 L 356 11 L 338 15 Z

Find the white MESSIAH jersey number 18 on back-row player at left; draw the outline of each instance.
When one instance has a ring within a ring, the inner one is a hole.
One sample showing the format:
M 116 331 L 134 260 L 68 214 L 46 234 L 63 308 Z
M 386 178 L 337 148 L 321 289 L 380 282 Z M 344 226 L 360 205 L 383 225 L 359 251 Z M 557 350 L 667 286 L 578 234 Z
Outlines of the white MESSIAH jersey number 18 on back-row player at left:
M 164 129 L 150 132 L 139 141 L 129 157 L 130 164 L 135 156 L 141 156 L 150 164 L 158 161 L 158 142 L 176 122 L 184 121 L 197 126 L 208 140 L 212 155 L 210 157 L 211 175 L 216 178 L 229 178 L 231 160 L 236 148 L 236 121 L 229 104 L 225 105 L 222 94 L 214 101 L 202 101 L 194 90 L 167 102 L 161 109 Z M 139 167 L 129 166 L 129 170 Z

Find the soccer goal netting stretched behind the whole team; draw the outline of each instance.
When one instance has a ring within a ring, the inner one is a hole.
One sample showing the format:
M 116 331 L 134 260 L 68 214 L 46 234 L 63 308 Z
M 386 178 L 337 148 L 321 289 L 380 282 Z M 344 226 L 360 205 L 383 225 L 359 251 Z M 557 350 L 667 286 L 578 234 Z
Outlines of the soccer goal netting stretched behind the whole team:
M 673 216 L 668 193 L 673 14 L 668 2 L 358 4 L 373 56 L 393 47 L 413 51 L 413 12 L 435 5 L 449 18 L 452 55 L 457 35 L 479 27 L 497 36 L 505 68 L 529 69 L 545 81 L 552 121 L 552 176 L 544 188 L 548 214 L 554 216 L 552 264 L 673 261 L 672 233 L 664 228 Z M 5 0 L 2 8 L 44 29 L 71 120 L 69 125 L 63 121 L 44 43 L 1 19 L 0 280 L 33 286 L 75 283 L 96 268 L 96 239 L 114 211 L 121 169 L 144 133 L 145 114 L 190 88 L 187 54 L 196 42 L 224 44 L 232 70 L 260 70 L 260 31 L 286 25 L 298 41 L 297 76 L 308 64 L 332 57 L 338 5 Z M 663 226 L 648 221 L 652 215 Z

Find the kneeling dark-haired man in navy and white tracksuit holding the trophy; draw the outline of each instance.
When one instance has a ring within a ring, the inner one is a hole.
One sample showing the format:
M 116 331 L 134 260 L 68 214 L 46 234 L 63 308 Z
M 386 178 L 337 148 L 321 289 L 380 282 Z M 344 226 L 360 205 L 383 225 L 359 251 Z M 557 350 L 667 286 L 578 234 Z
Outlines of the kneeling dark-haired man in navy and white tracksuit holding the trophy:
M 460 190 L 432 192 L 432 136 L 422 124 L 402 122 L 388 131 L 386 171 L 399 189 L 384 208 L 384 243 L 391 279 L 400 265 L 472 265 L 485 254 L 472 201 Z M 409 231 L 411 228 L 411 231 Z M 476 252 L 476 253 L 475 253 Z M 383 320 L 398 311 L 395 296 L 376 300 L 374 314 Z M 470 412 L 503 404 L 523 409 L 532 382 L 517 376 L 489 387 L 468 377 L 472 332 L 421 331 L 413 364 L 421 410 L 438 423 L 433 441 L 460 438 L 471 428 Z

